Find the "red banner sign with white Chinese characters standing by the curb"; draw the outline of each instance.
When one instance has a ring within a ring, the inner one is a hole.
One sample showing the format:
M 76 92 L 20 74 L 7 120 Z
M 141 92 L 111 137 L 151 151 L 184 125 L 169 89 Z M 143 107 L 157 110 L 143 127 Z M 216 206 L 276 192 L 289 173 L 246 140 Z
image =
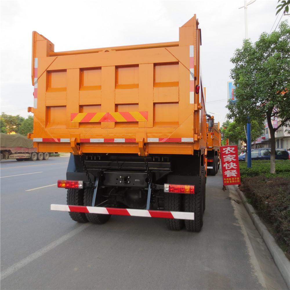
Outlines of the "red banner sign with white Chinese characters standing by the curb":
M 221 146 L 222 180 L 224 185 L 241 184 L 238 146 Z

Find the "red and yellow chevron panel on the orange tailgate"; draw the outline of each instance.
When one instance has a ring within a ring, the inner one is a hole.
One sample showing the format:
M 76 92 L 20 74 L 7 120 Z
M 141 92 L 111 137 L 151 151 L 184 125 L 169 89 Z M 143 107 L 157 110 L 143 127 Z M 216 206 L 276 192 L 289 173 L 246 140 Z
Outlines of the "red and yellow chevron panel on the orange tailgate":
M 148 112 L 71 113 L 73 123 L 142 122 L 148 121 Z

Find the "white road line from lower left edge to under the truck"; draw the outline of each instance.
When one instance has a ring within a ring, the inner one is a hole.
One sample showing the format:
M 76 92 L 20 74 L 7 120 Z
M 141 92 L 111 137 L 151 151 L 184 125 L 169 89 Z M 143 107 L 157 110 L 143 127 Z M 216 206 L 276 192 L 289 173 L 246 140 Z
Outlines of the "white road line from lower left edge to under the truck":
M 73 237 L 74 235 L 76 235 L 79 232 L 81 232 L 84 229 L 86 229 L 88 226 L 90 226 L 90 224 L 83 224 L 81 226 L 78 226 L 76 229 L 70 231 L 66 235 L 63 235 L 62 237 L 60 237 L 59 239 L 55 240 L 54 242 L 48 244 L 47 246 L 41 248 L 40 250 L 32 253 L 29 256 L 27 256 L 23 260 L 13 264 L 9 268 L 7 268 L 6 270 L 1 272 L 1 280 L 6 278 L 6 277 L 8 277 L 11 274 L 13 274 L 14 272 L 18 271 L 19 269 L 21 269 L 22 267 L 26 266 L 27 264 L 29 264 L 30 262 L 34 261 L 35 259 L 39 258 L 40 256 L 44 255 L 48 251 L 54 249 L 55 247 L 57 247 L 61 243 L 65 242 L 69 238 Z

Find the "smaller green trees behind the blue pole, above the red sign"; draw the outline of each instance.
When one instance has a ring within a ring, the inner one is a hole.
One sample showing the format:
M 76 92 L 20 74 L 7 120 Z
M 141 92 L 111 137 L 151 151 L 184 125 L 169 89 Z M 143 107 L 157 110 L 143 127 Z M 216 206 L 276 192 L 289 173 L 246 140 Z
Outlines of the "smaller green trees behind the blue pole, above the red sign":
M 238 123 L 238 122 L 230 122 L 227 120 L 222 124 L 222 132 L 224 133 L 224 139 L 229 139 L 229 144 L 238 144 L 238 141 L 244 141 L 244 143 L 247 142 L 245 128 L 246 124 Z M 224 127 L 226 127 L 224 129 Z M 251 122 L 251 141 L 254 141 L 258 137 L 262 135 L 262 131 L 264 129 L 264 124 L 258 123 L 257 121 L 253 120 Z

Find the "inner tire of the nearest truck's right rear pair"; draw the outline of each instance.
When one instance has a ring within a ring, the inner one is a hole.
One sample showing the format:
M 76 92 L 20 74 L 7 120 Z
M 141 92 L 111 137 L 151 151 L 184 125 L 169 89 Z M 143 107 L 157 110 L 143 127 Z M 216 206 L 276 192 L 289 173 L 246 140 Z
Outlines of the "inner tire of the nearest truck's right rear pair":
M 182 211 L 182 194 L 164 193 L 164 210 L 165 211 Z M 165 224 L 168 229 L 179 231 L 184 226 L 184 221 L 179 219 L 166 218 Z

